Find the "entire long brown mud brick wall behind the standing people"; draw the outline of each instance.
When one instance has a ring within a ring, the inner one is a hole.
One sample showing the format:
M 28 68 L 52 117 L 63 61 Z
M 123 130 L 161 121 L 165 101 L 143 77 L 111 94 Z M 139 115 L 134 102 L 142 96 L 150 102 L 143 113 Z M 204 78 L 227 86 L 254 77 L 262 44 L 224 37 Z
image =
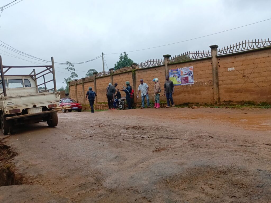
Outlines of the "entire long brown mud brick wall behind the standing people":
M 214 56 L 215 57 L 215 56 Z M 218 101 L 224 103 L 271 103 L 271 47 L 262 48 L 259 50 L 243 51 L 235 54 L 227 54 L 216 56 L 217 72 L 218 72 Z M 214 58 L 213 58 L 214 59 Z M 199 104 L 214 104 L 215 97 L 214 79 L 211 57 L 204 59 L 196 59 L 186 62 L 169 63 L 168 68 L 176 69 L 182 67 L 193 66 L 194 84 L 175 86 L 173 96 L 175 104 L 183 103 L 199 103 Z M 230 69 L 228 69 L 230 68 Z M 233 70 L 234 68 L 234 70 Z M 135 78 L 133 78 L 133 76 Z M 126 86 L 125 82 L 130 81 L 135 93 L 137 91 L 139 80 L 142 78 L 149 85 L 150 99 L 153 100 L 153 78 L 159 78 L 161 87 L 165 81 L 165 66 L 148 67 L 134 69 L 131 71 L 112 74 L 110 76 L 96 78 L 96 93 L 98 95 L 96 109 L 107 108 L 106 87 L 109 82 L 118 83 L 119 89 Z M 133 83 L 135 82 L 135 87 Z M 85 92 L 89 86 L 94 89 L 94 82 L 89 81 L 84 83 Z M 125 96 L 121 92 L 122 96 Z M 70 97 L 76 99 L 75 85 L 70 86 Z M 82 104 L 85 98 L 85 93 L 82 92 L 82 83 L 77 85 L 78 101 Z M 165 103 L 166 98 L 161 94 L 160 100 Z M 140 106 L 140 99 L 135 99 L 135 103 Z M 87 103 L 85 103 L 87 105 Z M 161 105 L 163 106 L 163 105 Z

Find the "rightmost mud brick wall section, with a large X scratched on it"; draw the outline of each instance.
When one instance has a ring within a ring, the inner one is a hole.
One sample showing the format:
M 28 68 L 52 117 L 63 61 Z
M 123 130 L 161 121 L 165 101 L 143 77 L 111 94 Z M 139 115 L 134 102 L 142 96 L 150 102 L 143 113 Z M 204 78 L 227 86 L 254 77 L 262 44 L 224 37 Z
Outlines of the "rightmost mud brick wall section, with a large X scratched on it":
M 221 103 L 270 103 L 271 49 L 217 58 Z

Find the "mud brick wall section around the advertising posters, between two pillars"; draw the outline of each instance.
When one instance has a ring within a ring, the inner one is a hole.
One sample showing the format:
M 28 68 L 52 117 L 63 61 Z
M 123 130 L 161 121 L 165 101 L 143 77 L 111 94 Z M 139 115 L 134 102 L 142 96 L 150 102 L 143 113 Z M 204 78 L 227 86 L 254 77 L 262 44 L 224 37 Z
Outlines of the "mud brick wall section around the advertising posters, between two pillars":
M 177 69 L 193 66 L 194 84 L 177 85 L 173 100 L 176 104 L 182 103 L 208 103 L 214 101 L 213 75 L 211 58 L 190 61 L 186 63 L 170 64 L 169 69 Z

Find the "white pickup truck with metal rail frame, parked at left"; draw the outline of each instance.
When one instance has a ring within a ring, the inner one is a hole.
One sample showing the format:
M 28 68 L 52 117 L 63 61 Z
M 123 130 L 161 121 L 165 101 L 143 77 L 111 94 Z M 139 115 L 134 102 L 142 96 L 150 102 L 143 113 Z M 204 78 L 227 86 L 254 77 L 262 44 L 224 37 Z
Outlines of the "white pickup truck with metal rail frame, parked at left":
M 60 95 L 56 91 L 54 73 L 54 61 L 48 66 L 3 66 L 0 56 L 0 124 L 4 135 L 10 134 L 17 124 L 37 123 L 47 121 L 49 127 L 55 127 L 58 123 L 57 107 L 59 107 Z M 4 68 L 7 68 L 4 70 Z M 45 68 L 36 73 L 36 70 L 28 75 L 7 75 L 11 68 Z M 45 75 L 53 74 L 53 79 L 46 81 Z M 43 79 L 41 84 L 38 78 Z M 53 82 L 54 90 L 50 92 L 46 84 Z M 44 91 L 38 90 L 38 86 L 45 86 Z

